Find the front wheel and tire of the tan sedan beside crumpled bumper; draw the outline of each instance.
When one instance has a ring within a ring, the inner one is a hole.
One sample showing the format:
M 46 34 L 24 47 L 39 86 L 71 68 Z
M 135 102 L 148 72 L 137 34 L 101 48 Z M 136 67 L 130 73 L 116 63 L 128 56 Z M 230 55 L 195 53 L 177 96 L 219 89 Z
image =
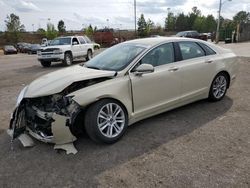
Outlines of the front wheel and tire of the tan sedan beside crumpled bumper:
M 108 108 L 112 109 L 113 113 L 109 113 Z M 128 115 L 120 103 L 112 99 L 103 99 L 87 109 L 84 125 L 93 141 L 112 144 L 125 133 L 128 127 Z

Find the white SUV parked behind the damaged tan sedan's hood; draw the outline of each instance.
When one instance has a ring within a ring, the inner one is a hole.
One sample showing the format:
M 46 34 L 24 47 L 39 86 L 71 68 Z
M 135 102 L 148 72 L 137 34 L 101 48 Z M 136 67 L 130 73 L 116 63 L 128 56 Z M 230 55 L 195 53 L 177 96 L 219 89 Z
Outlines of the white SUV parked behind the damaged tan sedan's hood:
M 85 57 L 88 61 L 94 53 L 94 45 L 87 36 L 58 37 L 49 46 L 37 52 L 43 67 L 50 67 L 51 62 L 62 61 L 69 66 L 74 59 Z

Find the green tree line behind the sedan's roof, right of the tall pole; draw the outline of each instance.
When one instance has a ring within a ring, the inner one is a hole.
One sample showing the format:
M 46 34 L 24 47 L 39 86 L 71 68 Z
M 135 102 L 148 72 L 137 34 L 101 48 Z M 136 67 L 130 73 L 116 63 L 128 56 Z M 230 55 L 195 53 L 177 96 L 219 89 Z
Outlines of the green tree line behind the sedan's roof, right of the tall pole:
M 239 23 L 250 23 L 250 12 L 239 11 L 232 20 L 220 17 L 220 29 L 235 30 Z M 215 32 L 217 19 L 213 15 L 202 15 L 197 7 L 193 7 L 188 14 L 180 13 L 175 15 L 169 12 L 165 18 L 164 27 L 155 24 L 151 19 L 146 21 L 144 14 L 141 14 L 137 21 L 137 33 L 140 37 L 146 37 L 159 31 L 179 32 L 197 30 L 200 33 Z

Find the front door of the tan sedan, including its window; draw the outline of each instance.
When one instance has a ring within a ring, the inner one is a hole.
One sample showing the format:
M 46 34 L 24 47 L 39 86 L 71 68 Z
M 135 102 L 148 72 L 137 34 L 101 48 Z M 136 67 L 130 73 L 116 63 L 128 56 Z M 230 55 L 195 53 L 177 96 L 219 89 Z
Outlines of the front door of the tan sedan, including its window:
M 178 103 L 181 80 L 175 67 L 172 43 L 149 51 L 138 63 L 151 64 L 153 73 L 137 76 L 130 73 L 135 116 L 145 116 Z

